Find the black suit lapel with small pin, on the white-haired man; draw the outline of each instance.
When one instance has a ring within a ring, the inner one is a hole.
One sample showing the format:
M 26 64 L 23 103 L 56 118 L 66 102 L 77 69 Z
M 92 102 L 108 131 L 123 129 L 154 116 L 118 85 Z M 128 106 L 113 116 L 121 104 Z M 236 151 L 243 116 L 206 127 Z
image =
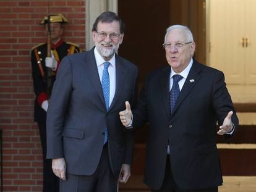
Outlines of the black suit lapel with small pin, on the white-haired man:
M 181 93 L 179 93 L 179 98 L 176 101 L 175 107 L 173 109 L 173 114 L 175 113 L 179 105 L 181 105 L 184 99 L 187 97 L 187 94 L 189 94 L 190 90 L 192 90 L 192 88 L 197 84 L 198 80 L 200 80 L 200 71 L 200 65 L 196 61 L 194 61 L 190 69 L 189 75 L 187 75 L 187 79 L 182 87 Z

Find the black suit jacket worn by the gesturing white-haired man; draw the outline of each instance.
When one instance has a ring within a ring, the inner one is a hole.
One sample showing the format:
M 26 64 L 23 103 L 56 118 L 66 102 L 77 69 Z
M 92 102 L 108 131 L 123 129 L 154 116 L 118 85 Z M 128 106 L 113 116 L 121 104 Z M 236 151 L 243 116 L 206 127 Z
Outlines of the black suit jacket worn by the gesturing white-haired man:
M 229 111 L 238 119 L 229 96 L 224 74 L 194 61 L 170 115 L 170 66 L 148 75 L 134 114 L 134 127 L 149 123 L 145 183 L 159 189 L 170 146 L 173 177 L 182 189 L 211 188 L 221 185 L 220 160 L 216 148 L 216 122 L 223 124 Z M 226 138 L 232 135 L 225 135 Z

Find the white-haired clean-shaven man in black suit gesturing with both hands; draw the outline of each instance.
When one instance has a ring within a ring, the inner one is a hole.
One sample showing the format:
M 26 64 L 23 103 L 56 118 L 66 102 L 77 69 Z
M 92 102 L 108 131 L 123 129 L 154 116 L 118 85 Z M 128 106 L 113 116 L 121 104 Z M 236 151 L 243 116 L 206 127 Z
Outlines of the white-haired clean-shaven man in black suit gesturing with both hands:
M 229 138 L 238 127 L 224 74 L 192 59 L 187 27 L 169 27 L 163 46 L 169 65 L 148 75 L 136 109 L 126 102 L 121 122 L 131 130 L 148 122 L 144 181 L 152 191 L 216 192 L 223 183 L 216 132 Z

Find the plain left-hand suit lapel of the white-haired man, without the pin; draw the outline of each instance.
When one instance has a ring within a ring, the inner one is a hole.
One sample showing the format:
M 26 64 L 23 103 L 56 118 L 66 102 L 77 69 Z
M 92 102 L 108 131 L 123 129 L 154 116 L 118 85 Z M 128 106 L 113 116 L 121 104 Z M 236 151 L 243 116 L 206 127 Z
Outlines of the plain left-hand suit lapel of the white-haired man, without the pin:
M 163 74 L 160 76 L 160 87 L 164 102 L 164 109 L 169 116 L 170 114 L 170 101 L 169 101 L 169 78 L 171 73 L 171 67 L 169 65 L 162 70 Z

